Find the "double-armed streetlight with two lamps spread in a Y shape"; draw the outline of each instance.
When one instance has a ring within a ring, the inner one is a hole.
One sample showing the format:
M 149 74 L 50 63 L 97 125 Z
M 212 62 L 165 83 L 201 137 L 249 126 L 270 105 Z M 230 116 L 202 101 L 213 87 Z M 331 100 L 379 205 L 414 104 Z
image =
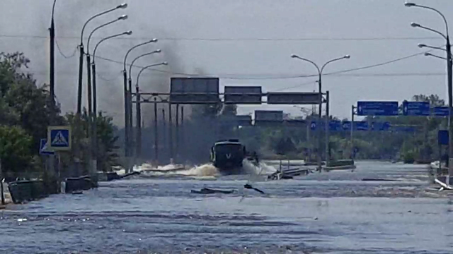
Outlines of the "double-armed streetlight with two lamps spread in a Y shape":
M 326 63 L 323 64 L 323 66 L 321 66 L 321 68 L 319 68 L 319 66 L 314 61 L 311 61 L 309 59 L 304 59 L 301 56 L 297 56 L 296 54 L 292 54 L 291 57 L 294 58 L 294 59 L 300 59 L 302 61 L 307 61 L 307 62 L 313 64 L 316 67 L 316 70 L 318 71 L 318 85 L 319 85 L 319 88 L 318 88 L 318 90 L 319 90 L 319 115 L 318 115 L 318 118 L 319 118 L 319 124 L 321 125 L 322 103 L 323 103 L 323 100 L 322 100 L 323 99 L 323 95 L 322 95 L 322 73 L 323 73 L 323 70 L 328 65 L 328 63 L 332 63 L 334 61 L 339 61 L 339 60 L 342 60 L 342 59 L 350 59 L 350 56 L 349 55 L 345 55 L 345 56 L 338 57 L 336 59 L 332 59 L 330 61 L 327 61 Z M 328 131 L 328 126 L 326 126 L 326 131 Z M 322 132 L 321 132 L 321 128 L 318 128 L 318 170 L 320 172 L 321 172 L 321 169 L 322 169 L 322 166 L 321 166 L 321 155 L 322 155 L 321 146 L 322 146 Z M 328 147 L 326 147 L 326 149 L 328 149 Z M 327 162 L 328 162 L 328 155 L 326 154 L 326 164 L 327 164 Z

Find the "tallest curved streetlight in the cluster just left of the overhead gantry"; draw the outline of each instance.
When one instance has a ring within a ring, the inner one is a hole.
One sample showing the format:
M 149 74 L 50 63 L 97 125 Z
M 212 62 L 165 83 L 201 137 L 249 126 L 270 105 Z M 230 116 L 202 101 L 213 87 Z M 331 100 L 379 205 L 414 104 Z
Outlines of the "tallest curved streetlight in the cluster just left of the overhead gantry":
M 125 157 L 127 160 L 127 165 L 126 165 L 126 171 L 132 171 L 132 163 L 130 161 L 130 156 L 132 155 L 132 137 L 131 137 L 131 131 L 132 131 L 132 80 L 129 83 L 129 90 L 127 89 L 127 71 L 126 71 L 126 61 L 127 61 L 127 56 L 129 55 L 130 52 L 132 52 L 133 49 L 136 49 L 137 47 L 143 46 L 145 44 L 149 44 L 151 42 L 157 42 L 157 39 L 152 39 L 147 42 L 142 42 L 140 44 L 135 45 L 134 47 L 130 48 L 127 50 L 125 59 L 123 61 L 123 68 L 122 68 L 122 78 L 123 78 L 123 85 L 124 85 L 124 97 L 125 97 Z

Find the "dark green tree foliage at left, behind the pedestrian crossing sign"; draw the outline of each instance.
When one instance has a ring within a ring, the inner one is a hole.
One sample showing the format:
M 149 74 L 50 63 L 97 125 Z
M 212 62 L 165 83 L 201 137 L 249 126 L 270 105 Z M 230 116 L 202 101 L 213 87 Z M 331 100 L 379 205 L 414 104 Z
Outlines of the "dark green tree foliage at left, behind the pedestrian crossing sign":
M 23 53 L 0 53 L 0 159 L 2 168 L 10 175 L 23 175 L 26 171 L 42 171 L 39 147 L 40 139 L 47 137 L 47 127 L 71 123 L 75 130 L 84 130 L 77 136 L 79 144 L 85 145 L 80 159 L 86 162 L 88 132 L 87 119 L 80 123 L 74 115 L 65 118 L 60 115 L 59 105 L 50 97 L 47 85 L 37 85 L 33 74 L 26 72 L 30 60 Z M 100 137 L 98 166 L 108 170 L 115 164 L 115 135 L 112 119 L 100 114 L 98 117 L 98 136 Z M 77 132 L 76 132 L 77 133 Z M 74 154 L 67 156 L 70 161 Z

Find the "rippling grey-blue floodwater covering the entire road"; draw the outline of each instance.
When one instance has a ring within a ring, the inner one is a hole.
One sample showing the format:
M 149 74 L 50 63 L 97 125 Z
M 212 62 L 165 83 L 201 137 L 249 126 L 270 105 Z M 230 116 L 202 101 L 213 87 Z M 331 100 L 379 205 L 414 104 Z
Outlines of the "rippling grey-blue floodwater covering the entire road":
M 357 162 L 251 182 L 265 195 L 243 189 L 246 175 L 189 170 L 13 206 L 0 212 L 0 253 L 453 253 L 453 200 L 427 191 L 425 166 Z M 238 193 L 190 193 L 204 187 Z

